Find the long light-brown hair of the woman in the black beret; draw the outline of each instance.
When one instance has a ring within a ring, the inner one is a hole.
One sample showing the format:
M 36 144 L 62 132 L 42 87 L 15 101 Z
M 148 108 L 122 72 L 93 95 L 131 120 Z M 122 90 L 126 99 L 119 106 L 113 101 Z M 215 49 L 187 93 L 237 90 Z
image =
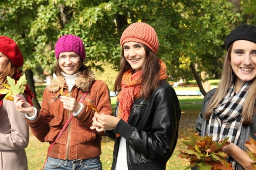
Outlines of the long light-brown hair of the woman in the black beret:
M 221 81 L 219 87 L 216 89 L 215 94 L 213 95 L 210 104 L 206 109 L 206 119 L 209 120 L 215 108 L 222 98 L 227 94 L 230 86 L 235 82 L 236 75 L 231 67 L 231 51 L 233 43 L 230 45 L 229 50 L 224 58 Z M 244 101 L 242 107 L 242 116 L 244 117 L 243 125 L 248 126 L 252 123 L 253 112 L 255 111 L 255 99 L 256 99 L 256 78 L 249 82 L 248 95 Z

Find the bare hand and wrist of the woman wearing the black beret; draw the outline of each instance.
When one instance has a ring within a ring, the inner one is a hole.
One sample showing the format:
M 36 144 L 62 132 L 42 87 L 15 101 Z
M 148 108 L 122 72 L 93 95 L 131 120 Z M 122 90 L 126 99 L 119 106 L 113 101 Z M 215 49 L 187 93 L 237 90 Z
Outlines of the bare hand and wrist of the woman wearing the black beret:
M 235 161 L 238 162 L 245 170 L 253 170 L 251 165 L 254 161 L 251 160 L 248 154 L 237 145 L 230 143 L 222 148 L 222 152 L 228 152 L 228 154 L 232 156 L 232 158 L 235 159 Z

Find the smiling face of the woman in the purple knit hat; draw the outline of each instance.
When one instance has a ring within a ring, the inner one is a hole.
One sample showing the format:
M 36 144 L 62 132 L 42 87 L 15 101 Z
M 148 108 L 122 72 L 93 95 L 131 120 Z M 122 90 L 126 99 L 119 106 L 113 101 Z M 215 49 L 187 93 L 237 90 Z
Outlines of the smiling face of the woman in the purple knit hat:
M 67 75 L 75 74 L 80 65 L 80 56 L 74 52 L 63 52 L 59 54 L 59 66 Z

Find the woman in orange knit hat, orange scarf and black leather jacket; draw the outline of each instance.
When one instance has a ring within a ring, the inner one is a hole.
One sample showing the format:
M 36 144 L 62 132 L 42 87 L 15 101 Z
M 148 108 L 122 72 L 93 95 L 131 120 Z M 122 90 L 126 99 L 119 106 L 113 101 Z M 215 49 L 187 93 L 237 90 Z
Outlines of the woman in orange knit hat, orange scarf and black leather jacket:
M 165 170 L 178 138 L 180 105 L 156 57 L 157 35 L 148 24 L 133 23 L 120 44 L 116 117 L 94 114 L 91 129 L 115 140 L 111 170 Z

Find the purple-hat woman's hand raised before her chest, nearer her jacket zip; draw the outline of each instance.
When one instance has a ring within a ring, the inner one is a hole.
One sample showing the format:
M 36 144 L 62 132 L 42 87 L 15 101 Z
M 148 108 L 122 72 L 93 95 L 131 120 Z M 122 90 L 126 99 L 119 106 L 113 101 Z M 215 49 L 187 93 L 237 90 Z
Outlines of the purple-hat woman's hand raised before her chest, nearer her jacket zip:
M 72 112 L 78 112 L 81 105 L 75 98 L 67 97 L 67 96 L 60 96 L 60 101 L 63 103 L 63 108 L 66 108 Z

